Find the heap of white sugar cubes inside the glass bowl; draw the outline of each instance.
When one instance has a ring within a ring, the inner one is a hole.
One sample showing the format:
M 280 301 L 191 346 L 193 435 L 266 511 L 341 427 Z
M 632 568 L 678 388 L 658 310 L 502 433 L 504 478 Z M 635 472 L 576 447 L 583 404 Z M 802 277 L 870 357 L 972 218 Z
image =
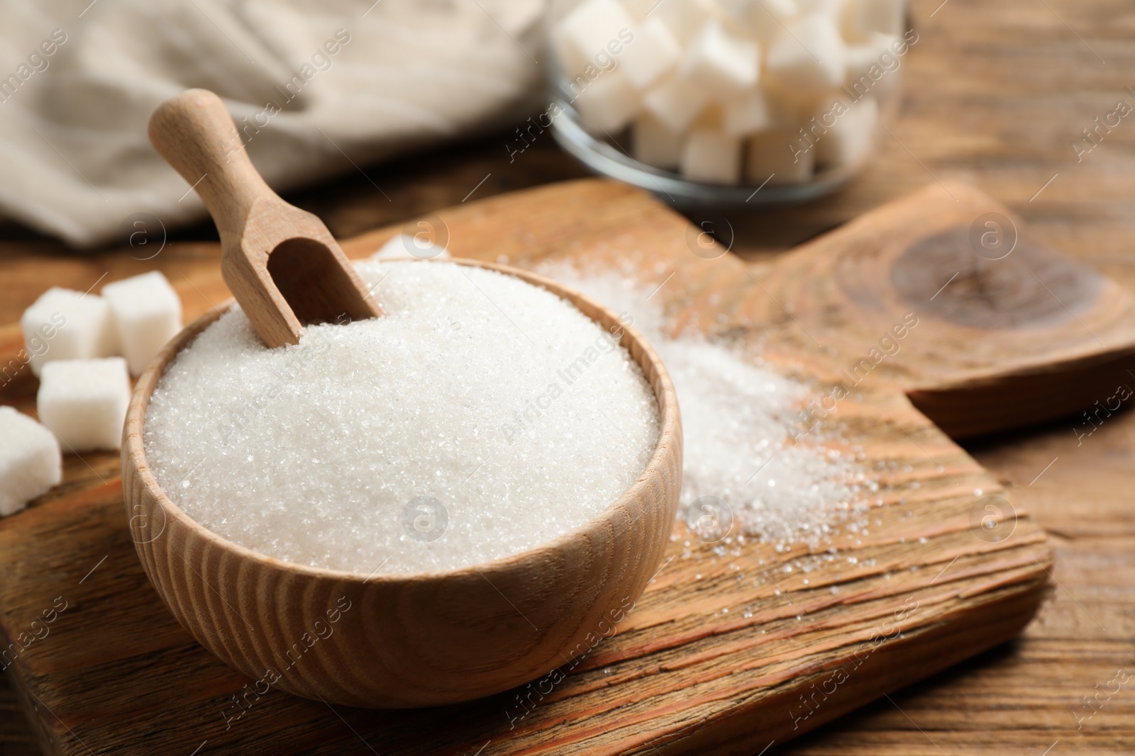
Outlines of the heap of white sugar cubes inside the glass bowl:
M 617 76 L 588 69 L 571 88 L 590 130 L 632 125 L 640 163 L 696 181 L 783 185 L 869 153 L 880 99 L 897 79 L 906 0 L 621 0 L 621 14 L 614 1 L 583 0 L 552 43 L 564 60 L 563 48 L 583 49 L 585 22 L 595 46 L 594 28 L 637 20 Z M 838 125 L 821 110 L 868 94 Z

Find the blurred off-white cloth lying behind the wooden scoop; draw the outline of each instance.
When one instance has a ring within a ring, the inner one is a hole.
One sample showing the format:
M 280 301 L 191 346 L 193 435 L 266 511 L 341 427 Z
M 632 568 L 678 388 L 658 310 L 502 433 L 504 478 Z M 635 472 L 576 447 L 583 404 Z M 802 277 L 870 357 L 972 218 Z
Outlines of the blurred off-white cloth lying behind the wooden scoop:
M 249 155 L 283 190 L 498 127 L 541 78 L 541 0 L 87 2 L 0 0 L 0 214 L 74 246 L 138 212 L 204 215 L 146 137 L 184 88 L 252 125 Z

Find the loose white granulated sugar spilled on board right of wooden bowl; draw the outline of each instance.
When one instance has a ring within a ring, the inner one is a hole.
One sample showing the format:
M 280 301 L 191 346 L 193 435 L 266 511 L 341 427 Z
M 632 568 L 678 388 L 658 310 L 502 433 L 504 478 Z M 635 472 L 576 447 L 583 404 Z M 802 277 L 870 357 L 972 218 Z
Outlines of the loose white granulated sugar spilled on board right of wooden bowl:
M 662 357 L 682 411 L 679 517 L 696 535 L 711 543 L 754 536 L 779 550 L 827 546 L 832 526 L 857 509 L 864 476 L 846 440 L 817 432 L 802 443 L 791 441 L 793 415 L 810 396 L 807 387 L 700 333 L 670 335 L 655 286 L 565 264 L 540 272 L 630 313 Z

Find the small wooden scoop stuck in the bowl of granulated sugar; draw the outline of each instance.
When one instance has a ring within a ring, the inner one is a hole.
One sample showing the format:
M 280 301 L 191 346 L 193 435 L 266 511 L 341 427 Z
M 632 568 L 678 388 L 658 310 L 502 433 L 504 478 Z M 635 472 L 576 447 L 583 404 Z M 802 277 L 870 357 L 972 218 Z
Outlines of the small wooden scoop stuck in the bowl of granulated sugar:
M 253 168 L 225 104 L 187 90 L 150 117 L 150 141 L 193 185 L 220 232 L 220 271 L 269 347 L 304 323 L 381 314 L 322 221 L 284 202 Z

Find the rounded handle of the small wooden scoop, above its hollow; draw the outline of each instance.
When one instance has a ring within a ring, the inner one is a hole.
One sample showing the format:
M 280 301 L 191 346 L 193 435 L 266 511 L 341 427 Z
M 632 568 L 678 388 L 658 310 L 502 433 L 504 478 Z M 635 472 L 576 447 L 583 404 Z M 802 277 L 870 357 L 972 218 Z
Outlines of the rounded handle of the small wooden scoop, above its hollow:
M 221 235 L 241 233 L 257 199 L 283 202 L 249 160 L 225 103 L 186 90 L 150 117 L 150 142 L 196 190 Z

